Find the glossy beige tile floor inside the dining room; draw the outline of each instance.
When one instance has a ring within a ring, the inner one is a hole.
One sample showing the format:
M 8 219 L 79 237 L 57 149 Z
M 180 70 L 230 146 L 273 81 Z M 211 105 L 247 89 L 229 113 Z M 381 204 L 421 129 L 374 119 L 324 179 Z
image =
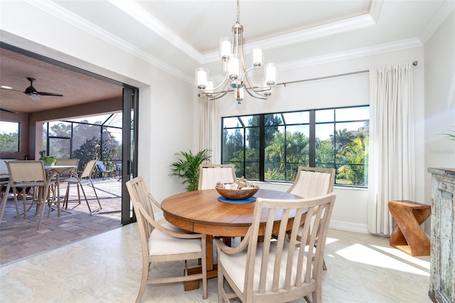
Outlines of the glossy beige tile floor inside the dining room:
M 0 267 L 0 302 L 134 302 L 141 275 L 136 223 Z M 388 238 L 329 230 L 323 302 L 431 302 L 429 256 L 410 257 Z M 183 263 L 152 267 L 181 273 Z M 148 285 L 141 302 L 218 302 L 216 279 L 185 292 L 181 283 Z M 295 302 L 304 302 L 304 299 Z

